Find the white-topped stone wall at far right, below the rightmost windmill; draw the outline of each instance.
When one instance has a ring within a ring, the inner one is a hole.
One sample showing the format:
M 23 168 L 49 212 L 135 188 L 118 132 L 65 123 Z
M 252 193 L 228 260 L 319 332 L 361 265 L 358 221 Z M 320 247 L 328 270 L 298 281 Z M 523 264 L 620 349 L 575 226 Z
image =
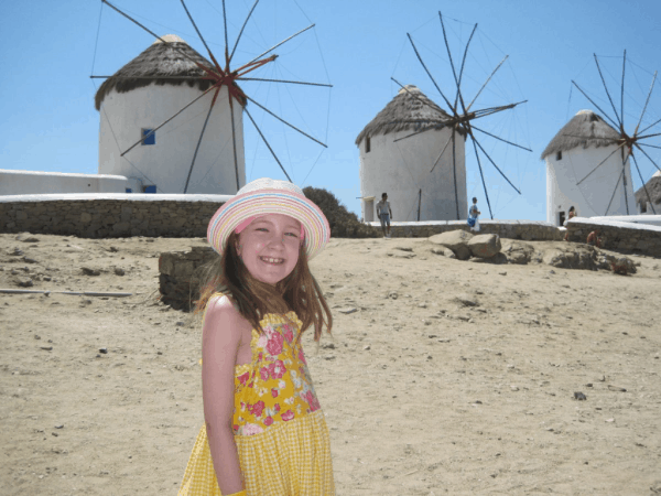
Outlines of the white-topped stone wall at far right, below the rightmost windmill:
M 602 248 L 661 257 L 661 227 L 585 217 L 574 217 L 567 222 L 570 241 L 586 242 L 587 235 L 595 229 L 605 236 L 606 242 Z

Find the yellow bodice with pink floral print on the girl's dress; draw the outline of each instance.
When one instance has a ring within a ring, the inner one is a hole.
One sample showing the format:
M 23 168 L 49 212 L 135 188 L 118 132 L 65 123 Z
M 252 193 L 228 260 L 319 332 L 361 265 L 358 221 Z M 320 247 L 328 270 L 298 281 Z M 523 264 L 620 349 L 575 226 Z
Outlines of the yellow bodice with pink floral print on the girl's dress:
M 301 347 L 294 312 L 268 314 L 252 331 L 250 364 L 235 375 L 234 432 L 256 435 L 321 408 Z

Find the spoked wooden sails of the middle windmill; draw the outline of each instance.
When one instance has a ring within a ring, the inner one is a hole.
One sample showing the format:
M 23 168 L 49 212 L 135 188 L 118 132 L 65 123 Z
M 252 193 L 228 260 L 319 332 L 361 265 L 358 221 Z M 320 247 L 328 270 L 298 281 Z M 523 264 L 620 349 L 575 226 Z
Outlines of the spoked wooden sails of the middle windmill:
M 424 194 L 423 188 L 426 186 L 427 188 L 430 188 L 430 187 L 435 188 L 435 191 L 427 191 L 429 196 L 432 196 L 434 194 L 437 196 L 446 195 L 449 198 L 449 202 L 452 202 L 454 204 L 453 208 L 452 208 L 453 212 L 451 214 L 452 217 L 448 217 L 448 218 L 462 219 L 462 218 L 465 218 L 465 215 L 466 215 L 466 205 L 465 205 L 466 184 L 465 184 L 465 172 L 463 172 L 463 170 L 464 170 L 463 147 L 464 147 L 465 140 L 469 140 L 472 142 L 473 152 L 475 154 L 477 165 L 479 169 L 480 180 L 481 180 L 485 196 L 487 200 L 487 206 L 489 208 L 489 215 L 491 218 L 494 218 L 494 212 L 491 208 L 491 202 L 489 200 L 487 182 L 485 180 L 483 160 L 485 162 L 489 162 L 495 168 L 495 170 L 501 175 L 501 177 L 505 179 L 505 181 L 509 184 L 509 186 L 512 187 L 518 194 L 521 194 L 521 192 L 519 191 L 519 188 L 517 188 L 513 185 L 513 183 L 503 173 L 502 169 L 500 166 L 498 166 L 496 161 L 491 158 L 490 153 L 487 151 L 486 147 L 480 141 L 481 137 L 485 136 L 490 139 L 495 139 L 499 142 L 502 142 L 508 145 L 516 147 L 516 148 L 519 148 L 522 150 L 527 150 L 527 151 L 531 151 L 531 150 L 523 145 L 517 144 L 513 141 L 500 138 L 496 133 L 487 131 L 484 128 L 484 126 L 478 125 L 477 121 L 479 119 L 485 119 L 489 116 L 494 116 L 494 115 L 503 112 L 506 110 L 511 110 L 511 109 L 518 107 L 519 105 L 525 103 L 525 100 L 517 101 L 517 103 L 508 103 L 505 105 L 481 106 L 479 104 L 479 101 L 480 101 L 479 97 L 483 95 L 485 89 L 488 87 L 488 85 L 492 80 L 494 76 L 502 67 L 502 65 L 506 62 L 506 60 L 508 58 L 508 56 L 505 56 L 505 58 L 502 58 L 502 61 L 500 61 L 500 63 L 497 64 L 496 67 L 489 73 L 486 80 L 484 80 L 481 83 L 481 85 L 479 86 L 477 91 L 473 95 L 473 98 L 468 99 L 467 97 L 465 97 L 465 91 L 463 89 L 463 83 L 465 83 L 465 79 L 466 79 L 466 74 L 465 74 L 466 62 L 467 62 L 467 55 L 468 55 L 469 47 L 470 47 L 470 42 L 473 41 L 473 37 L 477 30 L 477 24 L 475 24 L 473 26 L 470 36 L 468 37 L 468 41 L 466 42 L 465 46 L 463 47 L 463 55 L 460 55 L 459 58 L 455 58 L 455 57 L 453 57 L 453 54 L 452 54 L 452 50 L 451 50 L 451 46 L 449 46 L 449 43 L 447 40 L 447 32 L 446 32 L 446 26 L 445 26 L 445 22 L 444 22 L 444 17 L 441 12 L 438 12 L 438 20 L 441 22 L 443 41 L 444 41 L 445 51 L 447 54 L 449 67 L 452 71 L 453 82 L 454 82 L 454 88 L 451 90 L 452 95 L 451 95 L 451 93 L 447 91 L 447 89 L 445 89 L 445 91 L 444 91 L 441 88 L 441 85 L 437 83 L 436 78 L 432 74 L 432 71 L 429 68 L 429 65 L 425 63 L 425 61 L 423 61 L 423 57 L 419 50 L 419 44 L 413 40 L 411 34 L 408 33 L 408 40 L 415 53 L 415 57 L 416 57 L 418 62 L 424 69 L 426 77 L 431 80 L 435 90 L 441 95 L 444 105 L 441 107 L 436 106 L 436 104 L 434 104 L 427 97 L 425 97 L 423 94 L 418 91 L 418 88 L 412 87 L 410 85 L 404 85 L 404 84 L 400 83 L 400 80 L 392 77 L 391 79 L 401 88 L 400 96 L 405 95 L 409 97 L 410 100 L 416 100 L 419 104 L 418 106 L 421 109 L 426 108 L 429 110 L 426 112 L 424 110 L 422 110 L 421 117 L 419 118 L 419 120 L 401 121 L 401 120 L 394 119 L 392 122 L 390 122 L 391 127 L 393 127 L 394 130 L 401 131 L 402 129 L 408 128 L 409 130 L 412 131 L 412 132 L 408 132 L 404 134 L 398 133 L 398 136 L 394 137 L 393 142 L 395 142 L 395 143 L 400 142 L 403 144 L 405 141 L 415 140 L 422 134 L 432 134 L 434 131 L 441 131 L 441 130 L 446 131 L 446 132 L 443 132 L 442 134 L 437 134 L 434 138 L 430 138 L 431 141 L 436 141 L 436 142 L 438 140 L 438 137 L 442 137 L 442 139 L 443 139 L 443 143 L 436 150 L 434 157 L 427 163 L 416 163 L 415 164 L 415 166 L 418 166 L 418 168 L 424 166 L 426 169 L 426 172 L 421 172 L 420 183 L 422 183 L 422 184 L 420 186 L 420 190 L 415 191 L 414 193 L 418 193 L 416 196 L 418 196 L 419 212 L 420 212 L 420 207 L 421 207 L 421 203 L 422 203 L 422 196 Z M 460 61 L 460 64 L 458 64 L 458 63 L 455 64 L 455 61 L 456 62 Z M 447 95 L 451 95 L 451 97 L 448 97 Z M 397 98 L 399 98 L 399 97 L 395 97 L 395 99 Z M 377 116 L 377 119 L 378 118 L 379 118 L 379 116 Z M 384 128 L 387 129 L 387 132 L 388 132 L 388 128 L 387 127 L 384 127 Z M 366 131 L 368 131 L 368 132 L 366 132 Z M 478 139 L 478 134 L 479 134 L 479 139 Z M 360 142 L 362 140 L 365 143 L 365 144 L 362 144 L 362 148 L 361 148 L 361 161 L 364 162 L 364 165 L 367 163 L 366 160 L 364 160 L 364 159 L 367 159 L 367 154 L 364 153 L 364 150 L 367 150 L 367 144 L 368 144 L 367 138 L 369 138 L 369 127 L 366 128 L 366 130 L 364 130 L 364 133 L 361 133 L 357 139 L 357 144 L 359 147 L 361 145 Z M 371 147 L 371 142 L 369 144 Z M 413 145 L 411 145 L 411 147 L 413 147 Z M 485 163 L 485 165 L 486 165 L 486 163 Z M 446 171 L 444 171 L 444 175 L 441 179 L 438 179 L 435 175 L 435 174 L 438 174 L 438 169 L 447 169 Z M 452 187 L 449 190 L 440 190 L 436 186 L 437 181 L 445 181 L 446 183 L 449 183 Z M 388 192 L 388 193 L 389 193 L 389 196 L 392 198 L 392 195 L 390 194 L 390 192 Z M 392 198 L 392 202 L 394 204 L 395 200 Z M 419 216 L 419 219 L 420 219 L 420 216 Z

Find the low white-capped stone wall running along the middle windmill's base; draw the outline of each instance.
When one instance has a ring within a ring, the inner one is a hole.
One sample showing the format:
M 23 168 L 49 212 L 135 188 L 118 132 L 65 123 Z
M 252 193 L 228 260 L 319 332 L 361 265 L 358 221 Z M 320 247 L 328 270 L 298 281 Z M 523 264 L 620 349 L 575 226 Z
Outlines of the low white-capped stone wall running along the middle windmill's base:
M 379 223 L 370 223 L 379 226 Z M 552 224 L 534 220 L 480 220 L 479 234 L 496 234 L 501 238 L 522 239 L 525 241 L 561 240 L 564 231 Z M 427 238 L 449 230 L 466 230 L 470 227 L 466 220 L 434 220 L 422 223 L 392 223 L 393 238 Z

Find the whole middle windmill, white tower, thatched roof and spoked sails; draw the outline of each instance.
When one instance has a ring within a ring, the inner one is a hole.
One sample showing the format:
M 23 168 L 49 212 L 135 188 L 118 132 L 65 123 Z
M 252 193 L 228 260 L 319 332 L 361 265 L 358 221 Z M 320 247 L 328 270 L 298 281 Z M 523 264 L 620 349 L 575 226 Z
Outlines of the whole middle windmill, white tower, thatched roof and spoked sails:
M 365 220 L 373 216 L 372 197 L 388 193 L 397 220 L 459 220 L 467 217 L 465 144 L 473 144 L 476 163 L 484 186 L 489 215 L 494 218 L 485 181 L 483 160 L 490 162 L 509 185 L 521 194 L 498 168 L 485 147 L 476 138 L 484 133 L 509 145 L 530 149 L 505 140 L 477 127 L 477 120 L 510 110 L 525 101 L 484 107 L 478 97 L 502 66 L 507 56 L 494 68 L 472 99 L 462 90 L 466 56 L 477 30 L 473 28 L 460 57 L 455 65 L 443 15 L 438 12 L 447 52 L 451 75 L 454 78 L 454 101 L 446 96 L 423 61 L 411 34 L 407 34 L 420 65 L 438 91 L 444 109 L 434 104 L 415 86 L 403 86 L 394 99 L 360 132 L 356 144 L 360 148 L 360 177 Z M 447 89 L 446 89 L 447 91 Z M 481 159 L 480 159 L 481 157 Z

